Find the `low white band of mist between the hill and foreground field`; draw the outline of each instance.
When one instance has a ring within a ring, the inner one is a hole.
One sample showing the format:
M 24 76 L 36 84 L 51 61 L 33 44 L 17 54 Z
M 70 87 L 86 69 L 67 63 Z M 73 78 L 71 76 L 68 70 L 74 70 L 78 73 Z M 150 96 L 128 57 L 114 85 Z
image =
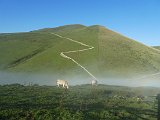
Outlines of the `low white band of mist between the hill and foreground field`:
M 38 84 L 55 86 L 57 79 L 64 79 L 69 82 L 69 85 L 82 85 L 90 84 L 92 78 L 82 76 L 60 76 L 58 74 L 33 74 L 33 73 L 9 73 L 0 72 L 0 84 Z M 160 87 L 160 80 L 157 78 L 145 78 L 145 79 L 122 79 L 122 78 L 98 78 L 98 84 L 116 85 L 116 86 L 128 86 L 128 87 Z

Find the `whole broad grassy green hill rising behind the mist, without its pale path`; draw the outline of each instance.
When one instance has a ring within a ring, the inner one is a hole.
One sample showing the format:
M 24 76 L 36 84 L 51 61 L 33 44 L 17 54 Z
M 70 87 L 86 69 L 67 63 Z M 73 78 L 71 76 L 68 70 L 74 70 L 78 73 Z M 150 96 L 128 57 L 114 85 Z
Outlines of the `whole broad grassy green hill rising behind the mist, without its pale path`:
M 160 71 L 160 50 L 103 26 L 87 27 L 79 24 L 26 33 L 0 34 L 0 69 L 88 76 L 75 63 L 60 56 L 62 51 L 86 47 L 51 33 L 94 46 L 92 50 L 67 55 L 99 78 L 141 76 Z

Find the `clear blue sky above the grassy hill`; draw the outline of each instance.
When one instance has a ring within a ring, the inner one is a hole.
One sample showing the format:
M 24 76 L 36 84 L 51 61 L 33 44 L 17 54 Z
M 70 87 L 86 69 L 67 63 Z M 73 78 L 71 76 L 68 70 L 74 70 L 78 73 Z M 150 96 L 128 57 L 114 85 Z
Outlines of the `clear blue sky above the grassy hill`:
M 146 45 L 160 45 L 160 1 L 0 0 L 0 33 L 66 24 L 99 24 Z

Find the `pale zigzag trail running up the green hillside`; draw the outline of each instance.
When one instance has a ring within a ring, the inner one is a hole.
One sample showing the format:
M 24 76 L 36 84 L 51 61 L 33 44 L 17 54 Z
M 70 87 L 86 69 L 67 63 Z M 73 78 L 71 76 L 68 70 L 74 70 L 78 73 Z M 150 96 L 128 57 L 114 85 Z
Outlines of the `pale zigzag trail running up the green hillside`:
M 80 44 L 80 45 L 82 45 L 82 46 L 88 47 L 88 48 L 86 48 L 86 49 L 81 49 L 81 50 L 73 50 L 73 51 L 61 52 L 61 53 L 60 53 L 60 56 L 62 56 L 63 58 L 72 60 L 74 63 L 76 63 L 78 66 L 80 66 L 83 70 L 85 70 L 93 79 L 97 80 L 97 78 L 96 78 L 92 73 L 90 73 L 84 66 L 82 66 L 81 64 L 79 64 L 79 63 L 78 63 L 76 60 L 74 60 L 73 58 L 68 57 L 67 55 L 65 55 L 65 54 L 67 54 L 67 53 L 76 53 L 76 52 L 83 52 L 83 51 L 91 50 L 91 49 L 94 49 L 94 47 L 93 47 L 93 46 L 90 46 L 90 45 L 87 45 L 87 44 L 84 44 L 84 43 L 82 43 L 82 42 L 73 40 L 73 39 L 71 39 L 71 38 L 63 37 L 63 36 L 58 35 L 58 34 L 56 34 L 56 33 L 51 33 L 51 34 L 54 34 L 54 35 L 56 35 L 56 36 L 58 36 L 58 37 L 60 37 L 60 38 L 64 38 L 64 39 L 67 39 L 67 40 L 69 40 L 69 41 L 78 43 L 78 44 Z

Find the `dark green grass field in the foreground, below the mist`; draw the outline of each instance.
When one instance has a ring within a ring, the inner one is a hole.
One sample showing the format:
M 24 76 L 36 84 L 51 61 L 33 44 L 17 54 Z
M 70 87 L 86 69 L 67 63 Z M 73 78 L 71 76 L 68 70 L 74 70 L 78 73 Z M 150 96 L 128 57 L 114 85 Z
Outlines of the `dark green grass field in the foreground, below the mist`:
M 156 120 L 159 88 L 0 86 L 1 120 Z

